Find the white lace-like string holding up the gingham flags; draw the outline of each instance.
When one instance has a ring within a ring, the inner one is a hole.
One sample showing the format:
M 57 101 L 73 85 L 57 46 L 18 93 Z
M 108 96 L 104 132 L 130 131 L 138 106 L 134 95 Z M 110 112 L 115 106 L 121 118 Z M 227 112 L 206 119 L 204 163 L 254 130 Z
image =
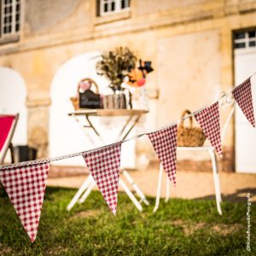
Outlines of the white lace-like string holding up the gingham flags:
M 253 75 L 256 74 L 253 73 Z M 251 79 L 253 77 L 253 75 L 251 75 L 248 79 Z M 238 85 L 239 86 L 239 85 Z M 237 86 L 236 86 L 237 87 Z M 224 94 L 220 97 L 218 97 L 218 100 L 216 102 L 219 102 L 221 99 L 223 99 L 224 97 L 230 95 L 230 93 L 236 88 L 236 87 L 231 87 L 229 90 L 227 90 L 226 92 L 224 92 Z M 213 103 L 212 103 L 213 104 Z M 160 130 L 163 130 L 163 129 L 166 129 L 167 127 L 172 127 L 173 125 L 177 125 L 178 123 L 180 123 L 181 121 L 185 120 L 185 119 L 189 119 L 190 117 L 193 117 L 195 116 L 196 114 L 198 113 L 201 113 L 202 111 L 204 111 L 206 108 L 209 108 L 212 104 L 208 104 L 198 110 L 196 110 L 195 112 L 192 112 L 186 116 L 184 116 L 183 118 L 181 119 L 177 119 L 175 122 L 169 124 L 169 125 L 164 125 L 164 126 L 161 126 L 160 128 L 154 130 L 154 131 L 150 131 L 150 132 L 156 132 L 156 131 L 160 131 Z M 143 137 L 145 135 L 148 135 L 149 132 L 144 132 L 144 133 L 141 133 L 141 134 L 137 134 L 136 136 L 134 137 L 130 137 L 130 138 L 126 138 L 125 140 L 121 140 L 119 142 L 116 142 L 116 143 L 126 143 L 128 141 L 131 141 L 131 140 L 136 140 L 138 139 L 139 137 Z M 73 157 L 77 157 L 77 156 L 80 156 L 80 155 L 83 155 L 83 154 L 89 154 L 89 153 L 93 153 L 93 152 L 96 152 L 97 150 L 99 149 L 103 149 L 103 148 L 108 148 L 109 146 L 111 145 L 114 145 L 116 143 L 111 143 L 111 144 L 107 144 L 107 145 L 104 145 L 102 147 L 99 147 L 99 148 L 92 148 L 90 150 L 86 150 L 86 151 L 82 151 L 82 152 L 78 152 L 78 153 L 73 153 L 73 154 L 65 154 L 65 155 L 62 155 L 62 156 L 58 156 L 58 157 L 53 157 L 53 158 L 46 158 L 46 159 L 41 159 L 41 160 L 30 160 L 30 161 L 24 161 L 24 162 L 20 162 L 20 163 L 16 163 L 16 164 L 7 164 L 7 165 L 3 165 L 3 166 L 0 166 L 0 171 L 3 171 L 3 170 L 8 170 L 8 169 L 12 169 L 12 168 L 15 168 L 15 167 L 20 167 L 20 166 L 31 166 L 31 165 L 38 165 L 38 164 L 44 164 L 44 163 L 48 163 L 48 162 L 54 162 L 54 161 L 57 161 L 57 160 L 64 160 L 64 159 L 69 159 L 69 158 L 73 158 Z

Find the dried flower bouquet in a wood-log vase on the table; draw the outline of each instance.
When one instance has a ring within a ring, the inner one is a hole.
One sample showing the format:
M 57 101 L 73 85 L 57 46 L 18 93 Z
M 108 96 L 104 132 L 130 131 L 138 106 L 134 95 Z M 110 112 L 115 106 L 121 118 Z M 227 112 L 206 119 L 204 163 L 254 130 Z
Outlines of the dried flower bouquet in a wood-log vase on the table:
M 113 90 L 112 95 L 104 96 L 104 108 L 132 108 L 131 100 L 127 98 L 127 95 L 131 98 L 131 93 L 122 84 L 135 68 L 136 61 L 136 55 L 127 47 L 119 47 L 102 54 L 102 60 L 96 63 L 96 70 L 110 81 L 109 87 Z

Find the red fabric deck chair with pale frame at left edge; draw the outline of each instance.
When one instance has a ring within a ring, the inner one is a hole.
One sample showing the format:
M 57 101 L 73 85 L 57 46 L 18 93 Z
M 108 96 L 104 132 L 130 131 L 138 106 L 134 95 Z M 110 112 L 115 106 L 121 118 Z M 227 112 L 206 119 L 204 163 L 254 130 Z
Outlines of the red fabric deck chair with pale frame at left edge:
M 11 140 L 15 133 L 19 113 L 15 115 L 0 114 L 0 165 L 3 164 Z

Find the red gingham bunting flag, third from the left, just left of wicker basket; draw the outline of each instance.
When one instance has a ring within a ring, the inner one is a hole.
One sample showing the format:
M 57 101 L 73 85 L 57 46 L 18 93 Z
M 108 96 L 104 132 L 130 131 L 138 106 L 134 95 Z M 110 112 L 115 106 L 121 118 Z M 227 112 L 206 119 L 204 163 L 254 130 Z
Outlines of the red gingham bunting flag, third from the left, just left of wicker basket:
M 172 183 L 176 184 L 177 125 L 148 133 L 161 165 Z

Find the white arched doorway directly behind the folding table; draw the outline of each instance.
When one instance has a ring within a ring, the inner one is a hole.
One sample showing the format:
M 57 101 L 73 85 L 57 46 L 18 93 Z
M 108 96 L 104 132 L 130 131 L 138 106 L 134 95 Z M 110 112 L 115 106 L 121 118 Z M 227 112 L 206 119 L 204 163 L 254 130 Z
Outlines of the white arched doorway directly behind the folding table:
M 109 81 L 96 73 L 96 61 L 98 61 L 101 52 L 90 52 L 74 56 L 66 61 L 55 73 L 51 84 L 50 97 L 50 117 L 49 117 L 49 155 L 50 157 L 64 154 L 72 154 L 79 151 L 88 150 L 102 146 L 102 142 L 96 140 L 93 131 L 85 131 L 75 119 L 69 117 L 67 113 L 73 112 L 74 108 L 70 97 L 76 94 L 79 81 L 84 78 L 90 78 L 99 85 L 100 93 L 104 93 L 108 88 Z M 102 132 L 108 134 L 108 143 L 113 143 L 114 129 L 119 128 L 118 122 L 121 119 L 114 120 L 114 123 L 108 123 L 108 119 L 96 119 L 102 127 Z M 101 123 L 101 124 L 100 124 Z M 111 128 L 109 132 L 108 128 Z M 132 135 L 131 135 L 132 136 Z M 106 137 L 106 136 L 104 136 Z M 122 163 L 127 167 L 135 166 L 135 141 L 124 143 Z M 134 154 L 131 154 L 134 152 Z M 60 166 L 84 166 L 82 157 L 56 161 L 55 165 Z

